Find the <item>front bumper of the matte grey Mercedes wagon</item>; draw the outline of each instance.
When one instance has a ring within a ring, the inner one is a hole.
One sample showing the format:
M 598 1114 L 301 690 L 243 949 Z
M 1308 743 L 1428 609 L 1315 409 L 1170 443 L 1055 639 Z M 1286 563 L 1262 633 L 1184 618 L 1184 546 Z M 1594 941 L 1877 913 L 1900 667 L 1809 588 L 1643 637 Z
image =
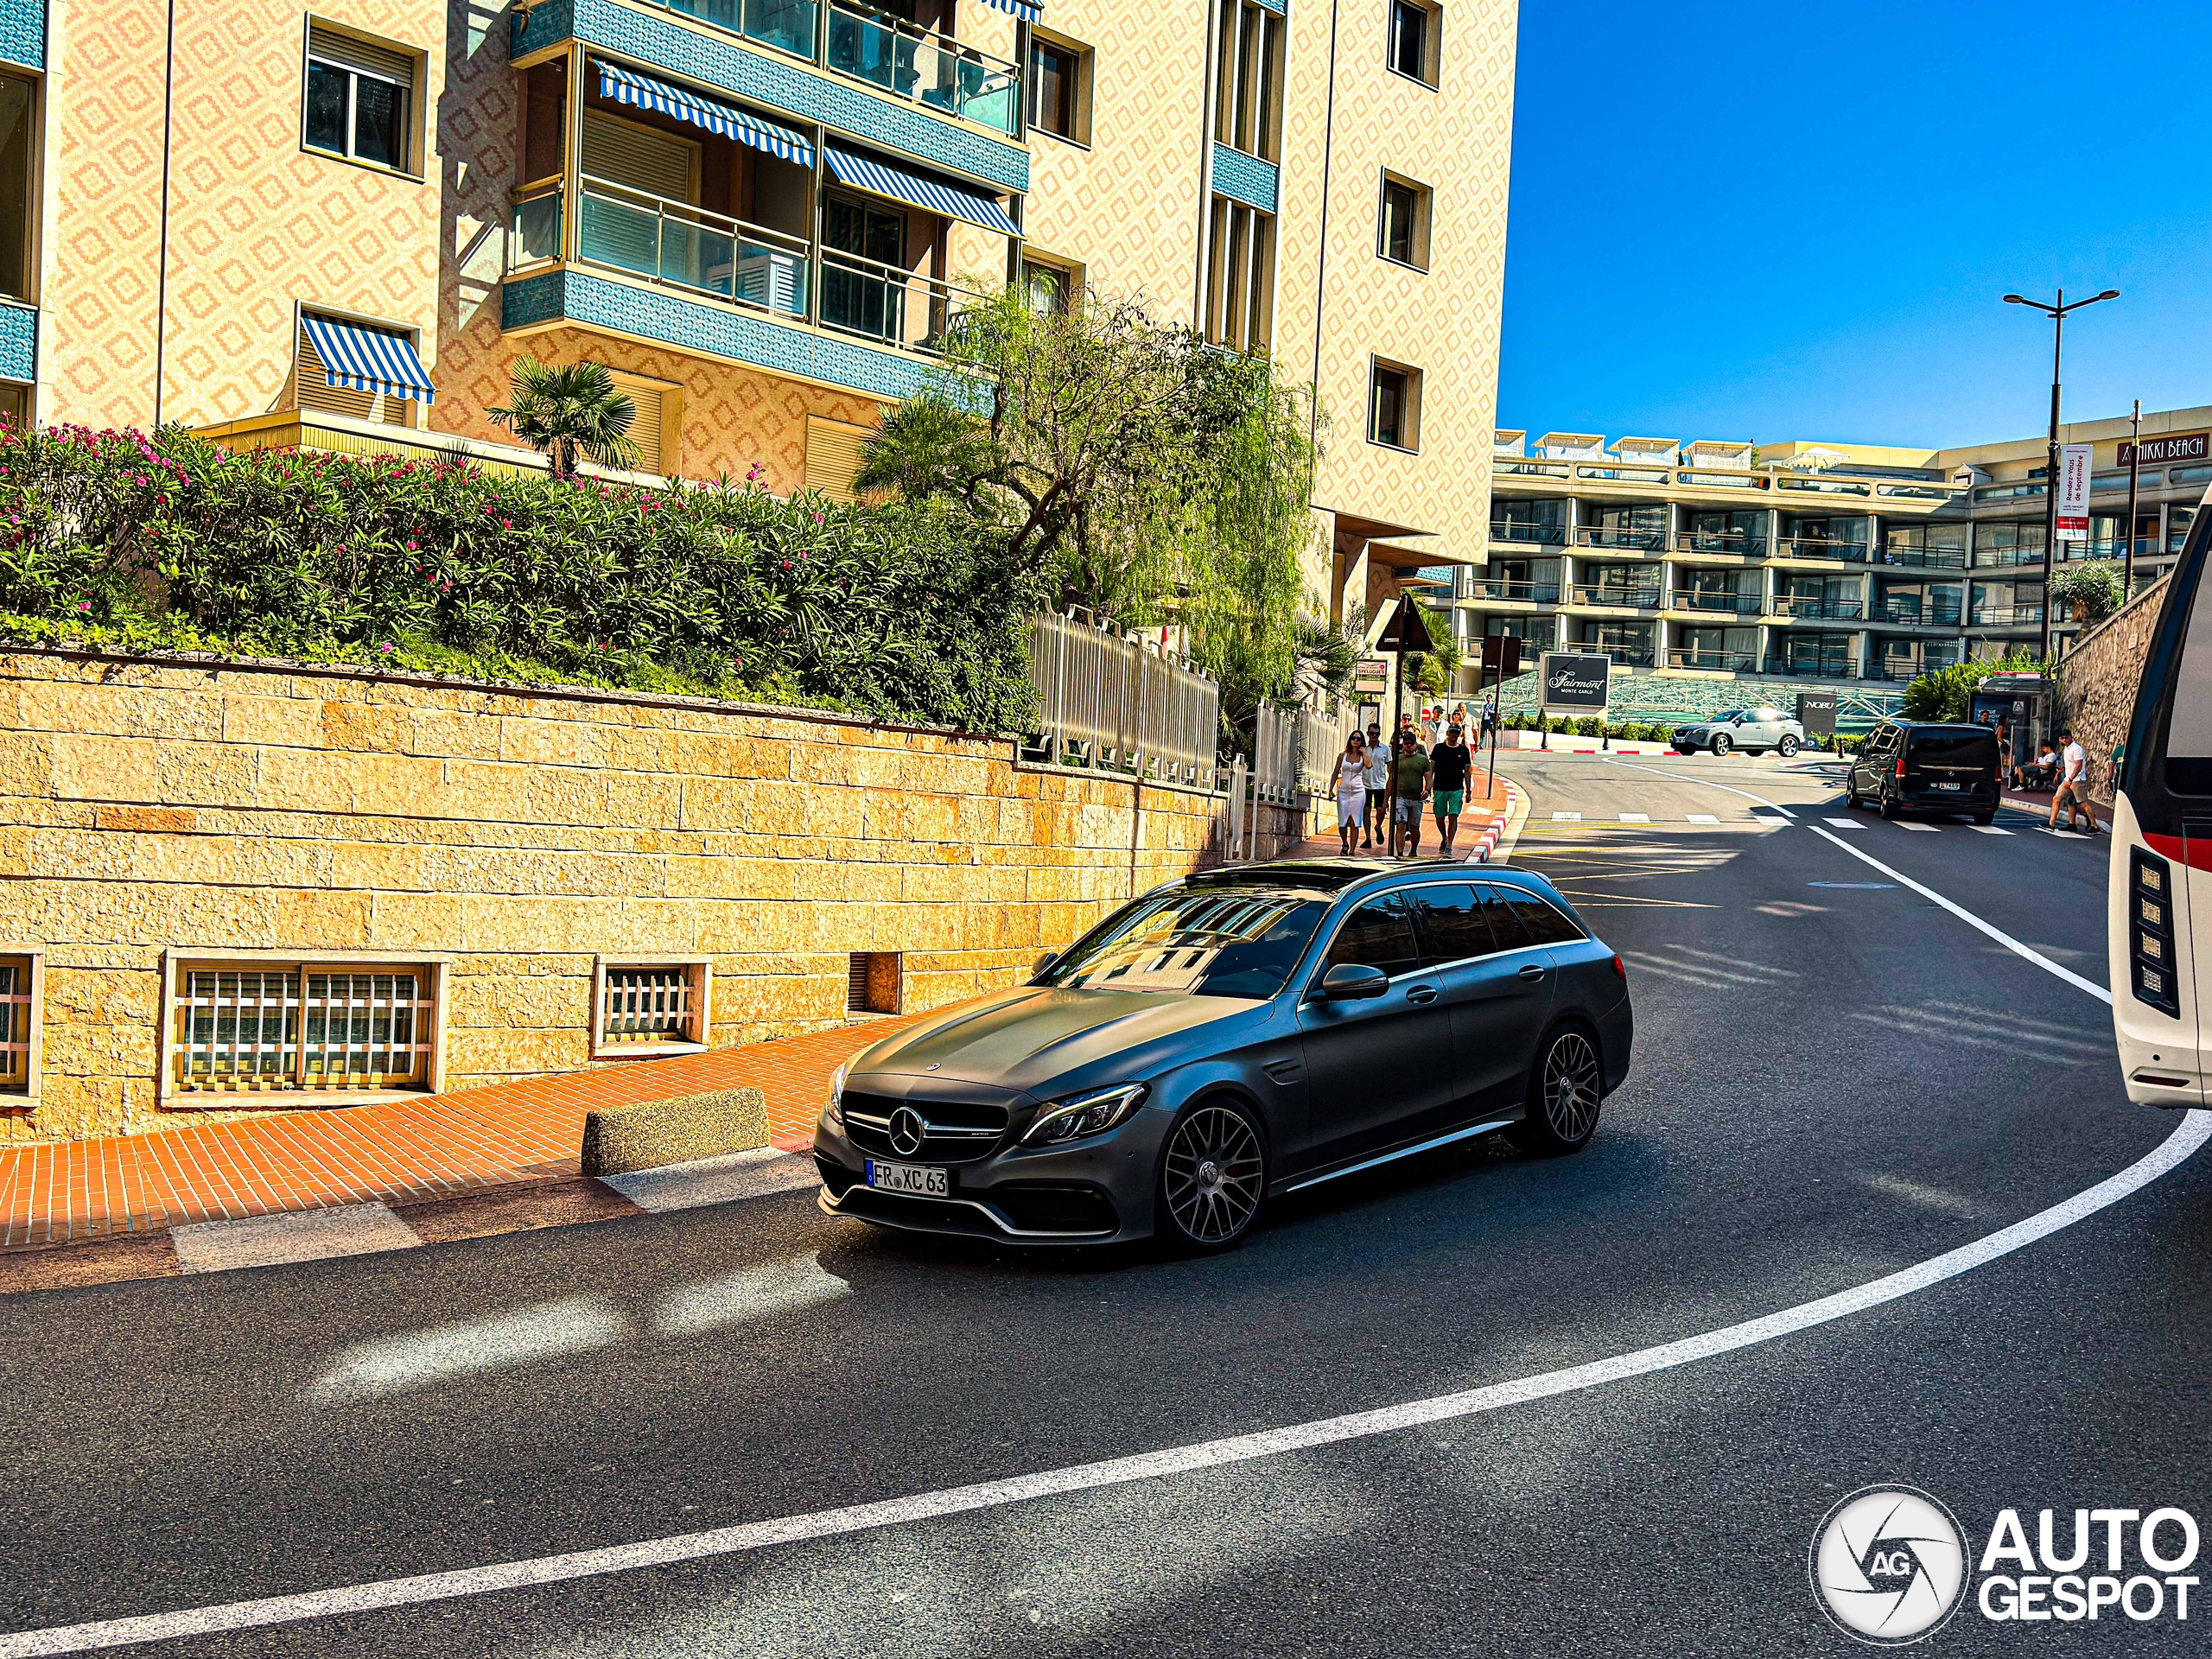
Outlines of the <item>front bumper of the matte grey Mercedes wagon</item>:
M 1015 1245 L 1088 1245 L 1152 1232 L 1152 1181 L 1170 1113 L 1139 1110 L 1119 1128 L 1073 1146 L 1002 1146 L 947 1164 L 951 1194 L 922 1199 L 867 1186 L 869 1155 L 823 1119 L 814 1168 L 823 1214 L 878 1228 L 991 1239 Z

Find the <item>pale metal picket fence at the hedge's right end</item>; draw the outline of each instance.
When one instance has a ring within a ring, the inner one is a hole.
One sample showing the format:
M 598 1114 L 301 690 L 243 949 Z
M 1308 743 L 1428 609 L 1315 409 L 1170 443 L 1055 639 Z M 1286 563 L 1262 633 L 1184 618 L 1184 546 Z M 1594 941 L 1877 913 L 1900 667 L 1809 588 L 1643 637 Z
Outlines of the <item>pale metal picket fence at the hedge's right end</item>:
M 1183 657 L 1084 611 L 1037 613 L 1029 675 L 1048 761 L 1221 787 L 1221 686 Z

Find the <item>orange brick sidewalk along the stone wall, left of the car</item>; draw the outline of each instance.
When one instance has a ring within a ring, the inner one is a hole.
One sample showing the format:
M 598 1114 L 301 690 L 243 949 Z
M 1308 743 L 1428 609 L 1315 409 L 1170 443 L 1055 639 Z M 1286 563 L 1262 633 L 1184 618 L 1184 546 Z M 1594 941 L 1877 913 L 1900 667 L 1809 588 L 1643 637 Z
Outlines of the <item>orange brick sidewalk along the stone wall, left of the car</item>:
M 633 1060 L 518 1084 L 250 1124 L 0 1150 L 0 1250 L 338 1203 L 411 1203 L 577 1175 L 584 1113 L 712 1088 L 768 1095 L 776 1146 L 810 1144 L 830 1075 L 900 1024 Z

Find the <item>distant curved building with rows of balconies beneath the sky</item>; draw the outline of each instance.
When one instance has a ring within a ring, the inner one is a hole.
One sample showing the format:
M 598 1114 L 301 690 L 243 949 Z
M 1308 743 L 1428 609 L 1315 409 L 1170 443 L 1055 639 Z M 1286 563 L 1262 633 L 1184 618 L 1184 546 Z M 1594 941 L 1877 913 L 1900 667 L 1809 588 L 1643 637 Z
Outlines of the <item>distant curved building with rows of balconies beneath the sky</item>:
M 2059 562 L 2121 557 L 2132 533 L 2137 588 L 2154 582 L 2212 484 L 2212 407 L 2143 416 L 2132 531 L 2130 422 L 2062 436 L 2093 445 L 2093 491 Z M 1491 465 L 1489 564 L 1455 586 L 1469 639 L 1597 650 L 1632 677 L 1874 686 L 2039 646 L 2039 436 L 1931 451 L 1500 429 Z M 2055 615 L 2053 648 L 2077 630 Z

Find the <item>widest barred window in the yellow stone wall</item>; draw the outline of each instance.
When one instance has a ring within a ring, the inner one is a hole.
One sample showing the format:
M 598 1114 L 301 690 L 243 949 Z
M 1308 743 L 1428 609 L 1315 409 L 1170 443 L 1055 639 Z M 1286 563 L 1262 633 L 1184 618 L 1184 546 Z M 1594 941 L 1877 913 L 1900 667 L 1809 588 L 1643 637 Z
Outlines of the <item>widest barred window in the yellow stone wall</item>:
M 179 1095 L 429 1088 L 434 964 L 179 962 Z

